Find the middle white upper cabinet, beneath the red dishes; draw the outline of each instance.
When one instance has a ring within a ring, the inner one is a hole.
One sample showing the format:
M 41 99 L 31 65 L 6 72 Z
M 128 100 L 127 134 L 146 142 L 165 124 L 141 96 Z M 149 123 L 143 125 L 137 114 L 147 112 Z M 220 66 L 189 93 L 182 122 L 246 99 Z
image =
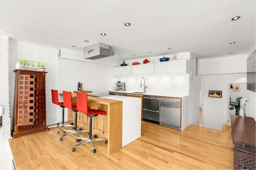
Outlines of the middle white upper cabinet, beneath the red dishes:
M 132 75 L 154 74 L 154 63 L 132 65 Z

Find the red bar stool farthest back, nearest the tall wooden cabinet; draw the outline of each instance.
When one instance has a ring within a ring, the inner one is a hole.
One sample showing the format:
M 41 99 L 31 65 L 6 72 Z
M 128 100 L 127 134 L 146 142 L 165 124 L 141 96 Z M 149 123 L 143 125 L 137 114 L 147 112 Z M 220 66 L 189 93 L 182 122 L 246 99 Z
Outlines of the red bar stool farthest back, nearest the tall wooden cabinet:
M 58 98 L 58 90 L 52 90 L 52 103 L 59 105 L 62 108 L 62 123 L 57 123 L 57 125 L 49 126 L 46 131 L 49 131 L 51 127 L 64 127 L 64 126 L 69 126 L 69 127 L 74 127 L 73 123 L 71 125 L 65 124 L 64 123 L 64 108 L 65 106 L 63 105 L 63 102 L 59 102 Z M 57 133 L 60 133 L 60 128 L 58 129 Z

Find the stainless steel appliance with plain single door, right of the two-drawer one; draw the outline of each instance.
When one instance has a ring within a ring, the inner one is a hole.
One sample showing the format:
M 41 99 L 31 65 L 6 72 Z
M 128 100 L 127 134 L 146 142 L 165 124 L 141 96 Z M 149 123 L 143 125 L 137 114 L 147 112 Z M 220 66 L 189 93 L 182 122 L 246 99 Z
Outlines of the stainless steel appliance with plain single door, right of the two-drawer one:
M 160 125 L 180 130 L 181 100 L 160 98 Z

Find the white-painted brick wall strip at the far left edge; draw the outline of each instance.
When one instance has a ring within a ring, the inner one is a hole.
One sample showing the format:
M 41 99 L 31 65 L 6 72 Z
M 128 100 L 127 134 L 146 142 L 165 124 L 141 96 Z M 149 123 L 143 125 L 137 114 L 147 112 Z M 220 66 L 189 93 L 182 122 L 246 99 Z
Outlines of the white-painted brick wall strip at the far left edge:
M 9 106 L 9 37 L 0 35 L 0 105 L 4 106 L 0 138 L 10 138 L 10 106 Z

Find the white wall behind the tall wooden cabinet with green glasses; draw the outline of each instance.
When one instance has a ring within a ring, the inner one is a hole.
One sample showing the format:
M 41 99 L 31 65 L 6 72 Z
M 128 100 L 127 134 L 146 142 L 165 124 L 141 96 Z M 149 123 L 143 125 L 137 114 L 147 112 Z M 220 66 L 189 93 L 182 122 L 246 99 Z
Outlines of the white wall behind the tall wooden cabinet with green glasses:
M 51 125 L 57 123 L 58 109 L 55 104 L 52 104 L 51 89 L 56 89 L 58 84 L 57 77 L 57 58 L 58 51 L 47 47 L 24 43 L 10 39 L 9 45 L 9 87 L 10 87 L 10 115 L 11 120 L 13 117 L 13 106 L 14 106 L 14 84 L 15 84 L 15 64 L 18 59 L 28 59 L 44 62 L 46 72 L 46 124 Z M 37 67 L 37 66 L 36 66 Z M 61 119 L 60 119 L 61 120 Z

